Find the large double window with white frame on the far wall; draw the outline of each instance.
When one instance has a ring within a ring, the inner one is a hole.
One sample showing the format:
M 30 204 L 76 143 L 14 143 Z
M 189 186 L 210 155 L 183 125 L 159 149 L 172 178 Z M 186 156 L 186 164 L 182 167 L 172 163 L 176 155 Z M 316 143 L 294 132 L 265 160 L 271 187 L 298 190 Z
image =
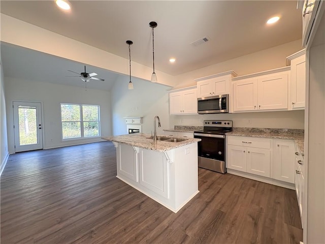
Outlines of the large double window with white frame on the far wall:
M 62 139 L 100 136 L 100 106 L 61 104 Z

